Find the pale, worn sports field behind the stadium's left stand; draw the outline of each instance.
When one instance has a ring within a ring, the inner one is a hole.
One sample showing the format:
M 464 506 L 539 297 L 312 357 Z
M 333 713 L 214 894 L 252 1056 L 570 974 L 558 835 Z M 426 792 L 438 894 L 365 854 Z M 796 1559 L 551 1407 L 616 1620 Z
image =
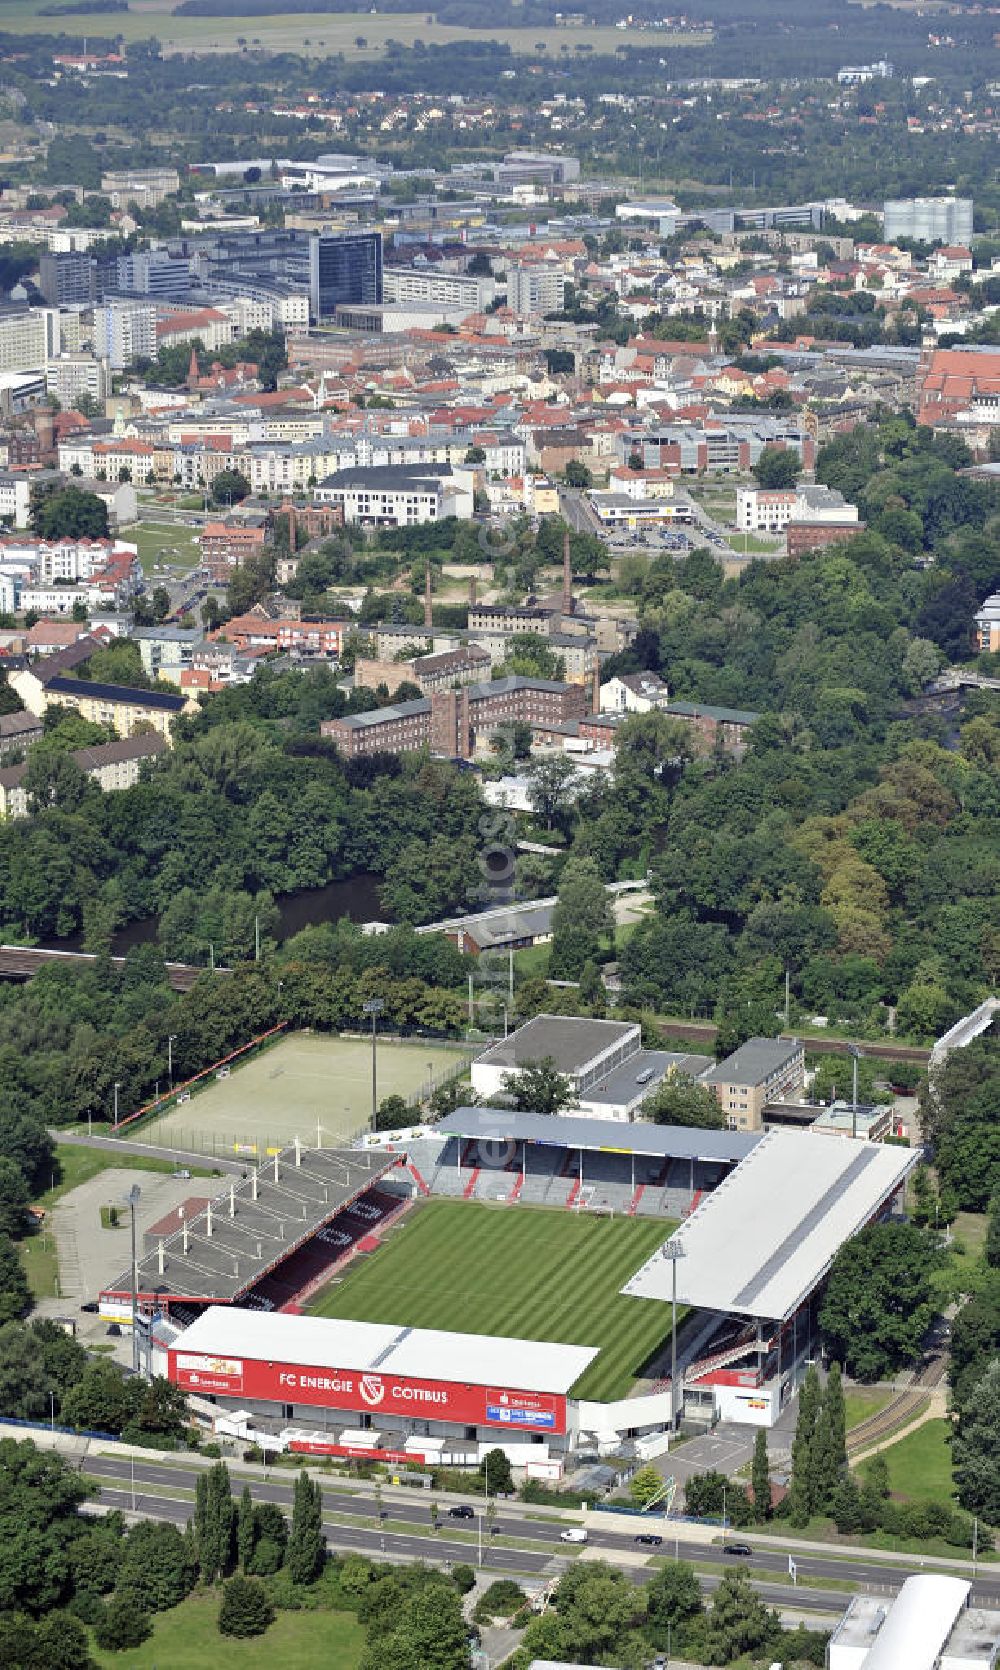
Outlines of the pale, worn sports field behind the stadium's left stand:
M 441 1044 L 379 1040 L 377 1097 L 419 1096 L 469 1055 Z M 135 1134 L 144 1142 L 190 1147 L 202 1154 L 249 1152 L 294 1137 L 329 1147 L 351 1141 L 371 1121 L 371 1039 L 299 1034 L 280 1039 L 229 1079 L 209 1079 L 190 1102 L 170 1107 Z

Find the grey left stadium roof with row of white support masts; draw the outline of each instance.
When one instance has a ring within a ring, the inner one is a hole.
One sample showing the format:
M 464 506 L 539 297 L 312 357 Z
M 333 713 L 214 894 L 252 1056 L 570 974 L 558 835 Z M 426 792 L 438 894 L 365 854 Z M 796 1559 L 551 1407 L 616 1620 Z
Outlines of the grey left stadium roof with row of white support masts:
M 234 1177 L 204 1211 L 139 1259 L 142 1299 L 230 1304 L 249 1293 L 317 1229 L 396 1164 L 377 1149 L 306 1149 L 292 1144 Z M 187 1234 L 187 1252 L 184 1251 Z M 125 1298 L 132 1273 L 104 1289 Z

